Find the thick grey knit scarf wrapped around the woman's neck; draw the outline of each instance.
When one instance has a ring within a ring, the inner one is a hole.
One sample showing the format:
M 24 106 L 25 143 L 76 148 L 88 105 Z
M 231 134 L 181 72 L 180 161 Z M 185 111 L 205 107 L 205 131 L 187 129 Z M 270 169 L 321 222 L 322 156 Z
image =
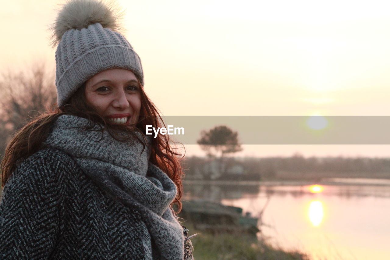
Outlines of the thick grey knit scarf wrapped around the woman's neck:
M 106 130 L 96 131 L 100 129 L 97 125 L 91 130 L 80 129 L 88 124 L 88 119 L 62 115 L 43 145 L 65 151 L 111 196 L 139 210 L 149 231 L 147 236 L 150 235 L 149 244 L 144 242 L 145 259 L 183 259 L 183 228 L 169 207 L 177 188 L 160 168 L 149 162 L 151 137 L 144 135 L 147 143 L 142 151 L 144 146 L 135 138 L 117 141 Z M 143 134 L 134 132 L 144 140 Z

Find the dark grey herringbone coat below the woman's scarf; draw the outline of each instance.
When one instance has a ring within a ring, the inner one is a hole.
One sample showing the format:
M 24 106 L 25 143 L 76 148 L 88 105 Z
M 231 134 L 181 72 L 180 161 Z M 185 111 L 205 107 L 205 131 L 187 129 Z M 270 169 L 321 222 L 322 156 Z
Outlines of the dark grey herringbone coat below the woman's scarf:
M 0 259 L 143 259 L 140 221 L 66 153 L 41 150 L 4 187 Z

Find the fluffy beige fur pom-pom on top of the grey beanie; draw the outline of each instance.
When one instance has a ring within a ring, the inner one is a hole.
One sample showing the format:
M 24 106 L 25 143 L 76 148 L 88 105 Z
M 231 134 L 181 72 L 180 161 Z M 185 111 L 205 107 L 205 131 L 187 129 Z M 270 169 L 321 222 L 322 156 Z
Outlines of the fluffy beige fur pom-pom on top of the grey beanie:
M 122 31 L 118 21 L 123 12 L 114 9 L 113 4 L 105 4 L 103 0 L 70 0 L 62 5 L 53 30 L 52 46 L 56 46 L 64 33 L 69 29 L 87 28 L 94 23 L 100 23 L 113 31 Z

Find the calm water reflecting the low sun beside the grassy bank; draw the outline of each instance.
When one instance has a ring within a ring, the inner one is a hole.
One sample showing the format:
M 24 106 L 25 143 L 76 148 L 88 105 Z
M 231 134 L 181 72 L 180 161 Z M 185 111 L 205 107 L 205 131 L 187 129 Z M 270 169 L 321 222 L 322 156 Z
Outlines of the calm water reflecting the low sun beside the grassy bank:
M 312 193 L 309 184 L 191 184 L 184 185 L 184 199 L 241 207 L 261 217 L 259 228 L 273 245 L 299 249 L 314 260 L 390 259 L 390 185 L 378 180 L 368 181 L 369 185 L 333 181 L 335 185 L 321 185 L 318 193 Z

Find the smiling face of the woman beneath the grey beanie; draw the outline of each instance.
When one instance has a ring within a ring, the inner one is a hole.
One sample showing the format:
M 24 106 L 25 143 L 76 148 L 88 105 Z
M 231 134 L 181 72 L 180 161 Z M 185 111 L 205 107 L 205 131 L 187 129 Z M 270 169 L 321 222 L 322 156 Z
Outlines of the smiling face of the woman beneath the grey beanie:
M 127 69 L 107 69 L 85 85 L 87 103 L 115 125 L 136 124 L 141 109 L 140 85 Z

